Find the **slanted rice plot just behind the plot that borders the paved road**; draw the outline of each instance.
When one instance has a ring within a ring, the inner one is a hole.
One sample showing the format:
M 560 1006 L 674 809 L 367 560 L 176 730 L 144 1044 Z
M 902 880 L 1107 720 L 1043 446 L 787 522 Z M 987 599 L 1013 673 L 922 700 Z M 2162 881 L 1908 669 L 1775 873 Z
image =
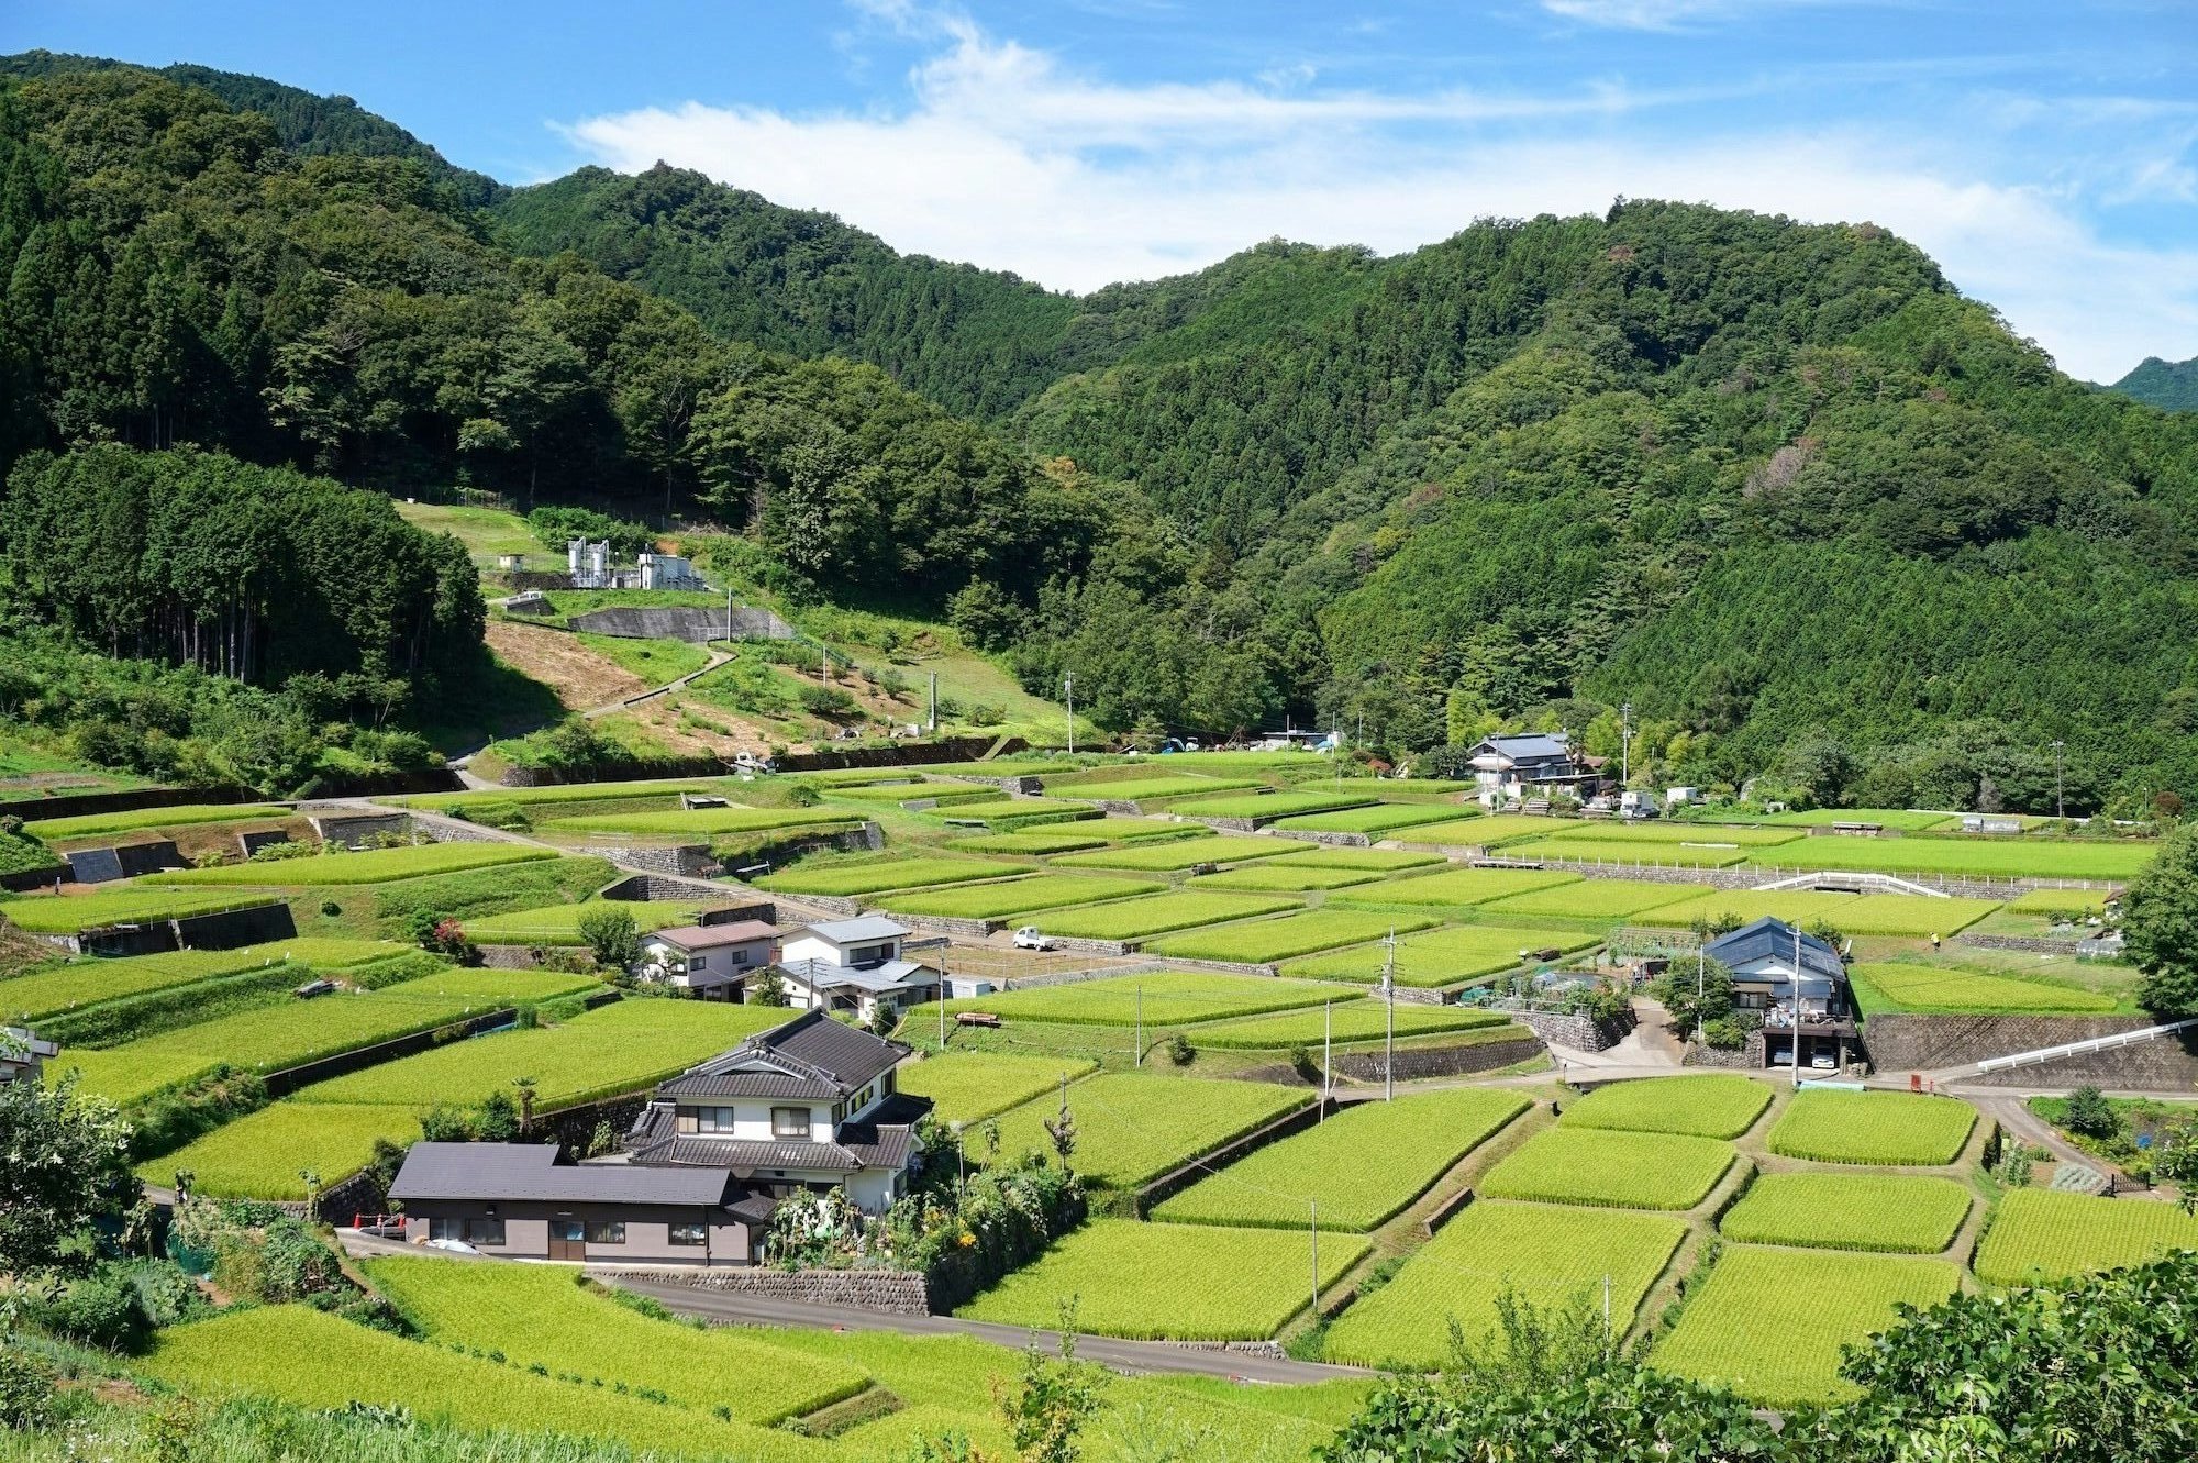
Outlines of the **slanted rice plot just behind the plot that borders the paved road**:
M 1301 1230 L 1319 1204 L 1321 1230 L 1363 1235 L 1427 1193 L 1451 1164 L 1528 1107 L 1525 1096 L 1492 1087 L 1354 1103 L 1200 1180 L 1152 1217 Z

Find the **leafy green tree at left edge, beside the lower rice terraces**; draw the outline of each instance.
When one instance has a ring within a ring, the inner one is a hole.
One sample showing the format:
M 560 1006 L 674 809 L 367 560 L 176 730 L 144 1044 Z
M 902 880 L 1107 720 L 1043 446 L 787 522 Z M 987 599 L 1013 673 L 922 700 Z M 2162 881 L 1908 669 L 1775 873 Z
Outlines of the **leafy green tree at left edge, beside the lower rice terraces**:
M 86 1274 L 99 1226 L 138 1202 L 130 1125 L 106 1098 L 57 1085 L 0 1085 L 0 1274 Z

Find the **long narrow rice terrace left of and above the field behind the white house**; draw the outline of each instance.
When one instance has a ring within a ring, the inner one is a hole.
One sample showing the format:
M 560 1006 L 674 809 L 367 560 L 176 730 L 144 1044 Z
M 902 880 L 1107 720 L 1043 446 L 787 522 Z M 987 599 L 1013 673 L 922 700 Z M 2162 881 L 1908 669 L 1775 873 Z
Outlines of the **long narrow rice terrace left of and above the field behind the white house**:
M 224 1063 L 244 1072 L 281 1072 L 503 1006 L 598 989 L 589 975 L 442 971 L 382 991 L 255 1006 L 106 1050 L 70 1050 L 55 1065 L 81 1072 L 84 1085 L 101 1096 L 132 1103 Z

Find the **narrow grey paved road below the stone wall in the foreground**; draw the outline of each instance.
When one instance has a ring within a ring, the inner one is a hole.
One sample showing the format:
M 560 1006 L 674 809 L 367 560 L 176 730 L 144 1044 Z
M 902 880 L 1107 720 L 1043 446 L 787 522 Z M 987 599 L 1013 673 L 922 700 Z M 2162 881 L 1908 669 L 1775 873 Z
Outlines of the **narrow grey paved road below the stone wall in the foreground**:
M 763 1325 L 763 1327 L 831 1327 L 846 1331 L 899 1331 L 901 1336 L 974 1336 L 1000 1347 L 1022 1349 L 1031 1344 L 1031 1331 L 1002 1327 L 989 1320 L 961 1320 L 956 1316 L 890 1316 L 886 1311 L 862 1311 L 851 1305 L 811 1305 L 807 1300 L 774 1300 L 765 1296 L 743 1296 L 730 1289 L 699 1289 L 692 1285 L 655 1285 L 635 1278 L 602 1276 L 622 1289 L 662 1300 L 681 1316 L 701 1316 L 714 1322 Z M 1037 1344 L 1059 1351 L 1059 1338 L 1051 1331 L 1037 1333 Z M 1099 1362 L 1128 1375 L 1176 1371 L 1198 1377 L 1237 1377 L 1242 1382 L 1334 1382 L 1336 1377 L 1369 1375 L 1356 1366 L 1325 1366 L 1319 1362 L 1290 1362 L 1259 1355 L 1255 1351 L 1205 1351 L 1198 1347 L 1169 1347 L 1165 1342 L 1132 1342 L 1112 1336 L 1077 1336 L 1077 1355 Z

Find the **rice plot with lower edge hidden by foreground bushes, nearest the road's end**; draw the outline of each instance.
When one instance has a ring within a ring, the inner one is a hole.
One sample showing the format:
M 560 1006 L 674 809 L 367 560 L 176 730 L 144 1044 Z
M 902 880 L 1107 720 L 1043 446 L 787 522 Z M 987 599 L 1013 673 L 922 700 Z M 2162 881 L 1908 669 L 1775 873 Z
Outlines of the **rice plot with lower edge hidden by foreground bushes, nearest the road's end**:
M 1394 1281 L 1336 1318 L 1328 1360 L 1440 1366 L 1451 1355 L 1451 1320 L 1468 1344 L 1484 1342 L 1506 1289 L 1545 1309 L 1600 1309 L 1605 1278 L 1611 1327 L 1624 1336 L 1684 1237 L 1686 1221 L 1666 1215 L 1477 1202 L 1413 1252 Z

